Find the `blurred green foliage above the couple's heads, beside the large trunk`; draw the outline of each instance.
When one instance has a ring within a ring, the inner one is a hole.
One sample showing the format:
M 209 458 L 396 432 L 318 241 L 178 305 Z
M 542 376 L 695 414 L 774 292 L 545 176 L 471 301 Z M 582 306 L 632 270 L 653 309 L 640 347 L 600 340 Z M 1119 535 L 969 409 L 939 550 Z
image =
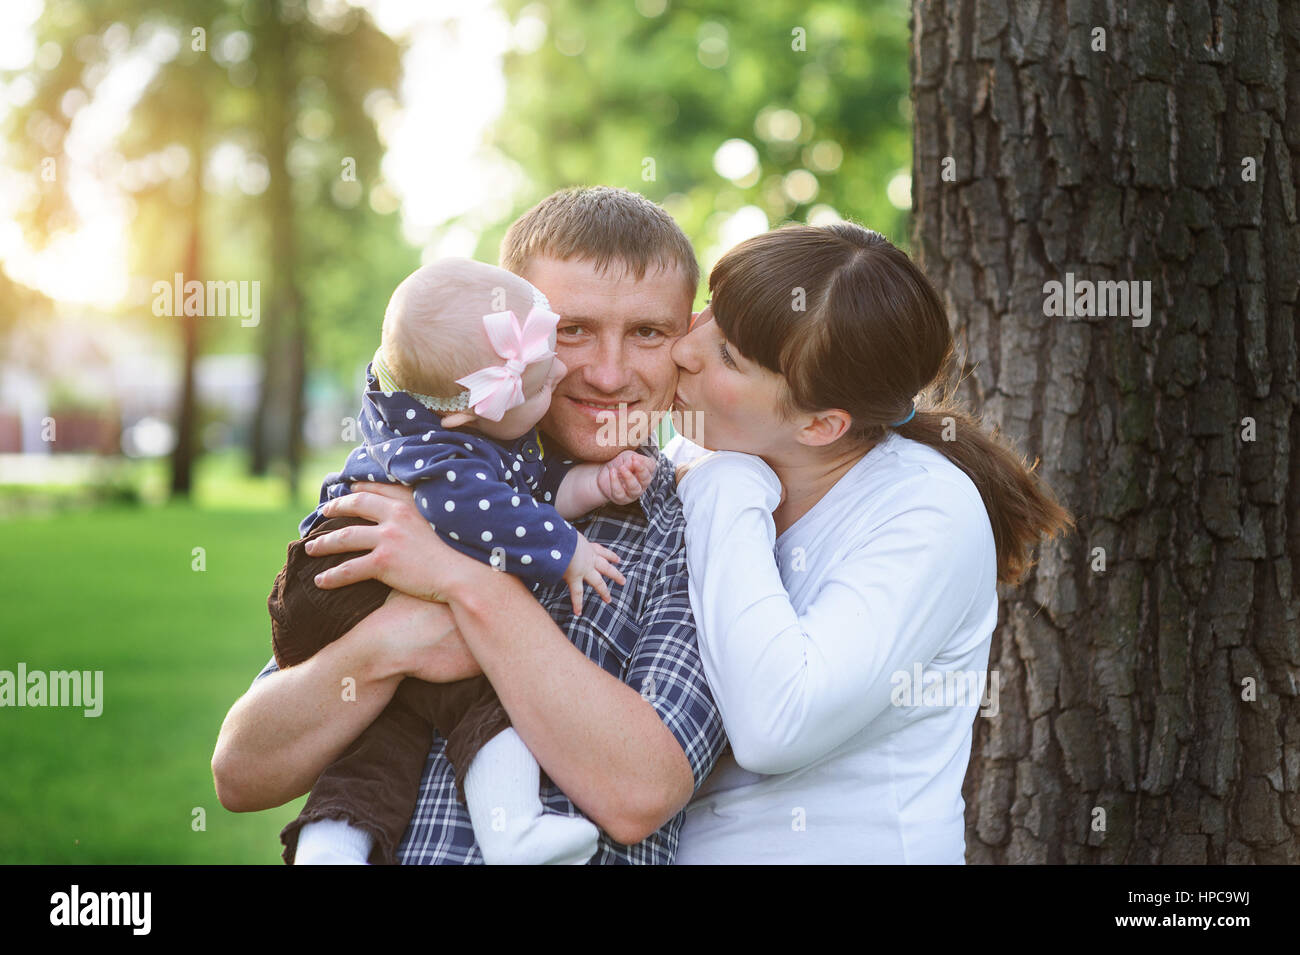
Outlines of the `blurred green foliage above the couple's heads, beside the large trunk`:
M 835 210 L 906 247 L 909 213 L 885 187 L 911 164 L 907 0 L 503 6 L 516 47 L 545 26 L 533 52 L 506 58 L 494 130 L 533 183 L 516 213 L 564 186 L 624 186 L 663 203 L 706 268 L 744 205 L 771 226 Z M 758 153 L 738 181 L 714 168 L 731 139 Z M 506 226 L 484 235 L 481 257 Z

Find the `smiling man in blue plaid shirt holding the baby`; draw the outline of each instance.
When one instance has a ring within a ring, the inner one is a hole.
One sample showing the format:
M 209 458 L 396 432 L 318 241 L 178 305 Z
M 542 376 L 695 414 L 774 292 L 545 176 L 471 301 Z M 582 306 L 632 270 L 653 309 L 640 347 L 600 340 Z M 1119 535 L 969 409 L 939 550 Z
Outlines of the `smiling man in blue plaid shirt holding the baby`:
M 642 196 L 569 190 L 511 226 L 502 265 L 562 316 L 556 352 L 569 370 L 542 421 L 545 453 L 610 460 L 623 447 L 608 439 L 608 411 L 625 408 L 636 422 L 671 407 L 670 352 L 699 281 L 690 243 Z M 247 812 L 306 793 L 407 676 L 438 682 L 481 672 L 549 777 L 542 802 L 602 829 L 592 861 L 670 861 L 681 809 L 725 738 L 696 646 L 673 469 L 654 444 L 645 450 L 658 469 L 641 500 L 575 521 L 621 557 L 628 582 L 614 589 L 614 603 L 589 602 L 575 617 L 566 587 L 533 599 L 517 579 L 490 572 L 448 604 L 394 594 L 306 663 L 283 672 L 269 664 L 235 702 L 212 758 L 221 803 Z M 374 490 L 351 496 L 365 516 L 417 526 L 408 492 Z M 351 563 L 367 572 L 391 570 L 402 557 L 410 565 L 417 546 L 390 537 Z M 341 685 L 355 687 L 351 700 L 341 700 Z M 398 856 L 481 861 L 441 737 Z

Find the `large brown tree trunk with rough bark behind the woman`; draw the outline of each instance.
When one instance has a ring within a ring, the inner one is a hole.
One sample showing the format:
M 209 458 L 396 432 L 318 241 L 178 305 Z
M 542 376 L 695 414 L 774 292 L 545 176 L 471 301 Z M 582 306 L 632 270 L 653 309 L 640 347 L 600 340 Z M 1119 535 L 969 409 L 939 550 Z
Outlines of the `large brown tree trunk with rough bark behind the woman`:
M 968 861 L 1300 861 L 1300 5 L 915 0 L 913 99 L 963 396 L 1078 518 L 1004 592 Z

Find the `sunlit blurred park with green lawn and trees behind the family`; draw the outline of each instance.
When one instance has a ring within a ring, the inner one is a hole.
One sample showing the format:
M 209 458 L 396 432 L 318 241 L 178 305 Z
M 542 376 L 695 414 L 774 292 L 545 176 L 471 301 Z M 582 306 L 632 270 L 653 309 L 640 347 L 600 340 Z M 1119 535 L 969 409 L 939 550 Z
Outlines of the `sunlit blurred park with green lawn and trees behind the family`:
M 0 861 L 278 860 L 300 800 L 229 813 L 208 761 L 421 261 L 495 262 L 516 214 L 585 183 L 663 203 L 705 266 L 848 209 L 906 242 L 904 0 L 0 17 L 0 668 L 101 669 L 105 695 L 0 711 Z M 156 316 L 176 273 L 259 281 L 260 322 Z

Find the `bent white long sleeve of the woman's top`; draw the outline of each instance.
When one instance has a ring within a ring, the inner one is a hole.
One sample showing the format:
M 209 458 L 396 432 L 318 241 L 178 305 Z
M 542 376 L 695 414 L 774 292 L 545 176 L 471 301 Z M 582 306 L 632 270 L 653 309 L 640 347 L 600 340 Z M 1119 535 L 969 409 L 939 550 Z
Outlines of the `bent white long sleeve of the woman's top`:
M 774 551 L 771 468 L 719 452 L 679 486 L 701 657 L 741 767 L 792 772 L 862 730 L 894 674 L 930 664 L 988 586 L 983 508 L 918 490 L 900 486 L 894 513 L 797 613 Z

